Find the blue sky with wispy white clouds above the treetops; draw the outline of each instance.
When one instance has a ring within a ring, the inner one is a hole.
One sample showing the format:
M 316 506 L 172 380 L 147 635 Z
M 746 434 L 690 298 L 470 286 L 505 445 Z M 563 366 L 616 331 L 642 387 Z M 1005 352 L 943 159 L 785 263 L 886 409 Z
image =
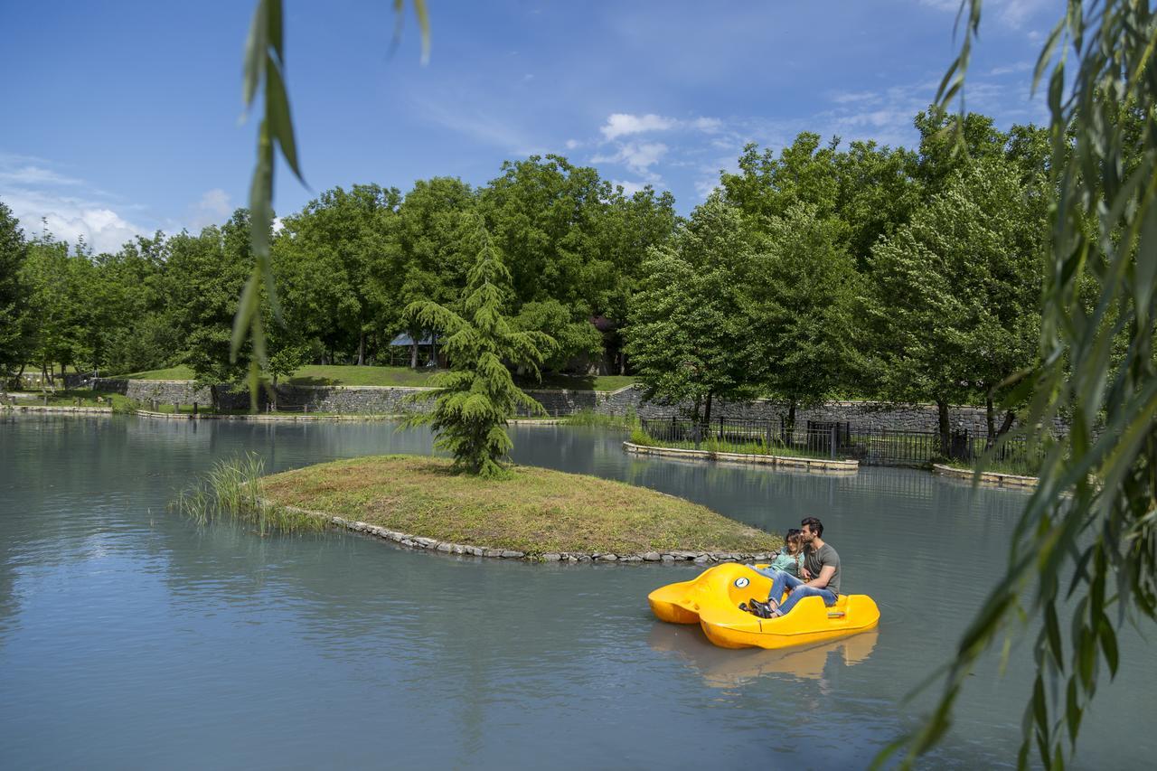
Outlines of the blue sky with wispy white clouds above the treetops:
M 407 0 L 408 2 L 408 0 Z M 0 200 L 29 235 L 100 250 L 223 221 L 243 205 L 251 0 L 0 0 Z M 956 52 L 957 0 L 428 0 L 398 50 L 389 0 L 286 0 L 287 82 L 309 188 L 279 170 L 279 212 L 334 185 L 479 185 L 557 153 L 627 190 L 701 203 L 749 141 L 799 131 L 915 144 L 912 117 Z M 987 0 L 970 109 L 1041 122 L 1031 68 L 1059 1 Z

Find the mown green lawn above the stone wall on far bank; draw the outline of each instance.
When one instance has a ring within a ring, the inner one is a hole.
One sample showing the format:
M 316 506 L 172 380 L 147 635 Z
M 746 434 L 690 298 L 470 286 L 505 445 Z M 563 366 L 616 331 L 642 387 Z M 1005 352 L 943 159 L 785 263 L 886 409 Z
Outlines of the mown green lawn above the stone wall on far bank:
M 429 386 L 433 373 L 408 367 L 355 367 L 352 365 L 307 365 L 282 382 L 290 386 Z M 152 369 L 125 375 L 130 380 L 192 380 L 189 367 Z M 543 376 L 541 384 L 522 381 L 523 388 L 567 388 L 578 391 L 613 391 L 631 383 L 631 375 L 552 375 Z

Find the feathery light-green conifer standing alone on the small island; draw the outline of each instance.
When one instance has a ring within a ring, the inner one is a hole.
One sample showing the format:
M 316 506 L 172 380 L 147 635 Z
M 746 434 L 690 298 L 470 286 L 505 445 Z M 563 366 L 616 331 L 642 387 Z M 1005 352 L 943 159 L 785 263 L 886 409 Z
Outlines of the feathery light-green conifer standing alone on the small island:
M 418 397 L 434 399 L 433 411 L 417 414 L 408 424 L 429 424 L 437 436 L 434 446 L 451 453 L 459 471 L 498 477 L 503 473 L 502 458 L 513 446 L 506 425 L 516 407 L 545 414 L 538 402 L 514 384 L 506 362 L 537 373 L 554 340 L 510 325 L 503 315 L 510 273 L 481 223 L 476 232 L 480 244 L 467 277 L 462 314 L 428 300 L 406 308 L 406 315 L 414 316 L 422 329 L 444 336 L 443 346 L 451 361 L 450 372 L 434 376 L 435 390 Z

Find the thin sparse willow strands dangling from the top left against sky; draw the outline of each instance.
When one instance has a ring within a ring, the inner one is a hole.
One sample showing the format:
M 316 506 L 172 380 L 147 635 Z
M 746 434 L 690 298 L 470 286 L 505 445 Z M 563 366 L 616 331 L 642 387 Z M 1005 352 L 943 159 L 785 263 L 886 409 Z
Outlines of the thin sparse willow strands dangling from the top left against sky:
M 429 16 L 426 0 L 413 0 L 414 12 L 422 32 L 422 61 L 429 57 Z M 398 17 L 395 37 L 400 34 L 405 12 L 405 0 L 393 0 L 393 12 Z M 293 117 L 289 112 L 289 96 L 285 85 L 285 35 L 281 0 L 258 0 L 253 21 L 245 39 L 245 60 L 242 71 L 242 102 L 250 111 L 258 90 L 265 96 L 261 122 L 257 128 L 257 163 L 249 186 L 250 241 L 253 244 L 253 271 L 245 282 L 233 322 L 231 355 L 234 360 L 246 337 L 253 346 L 249 365 L 250 404 L 257 409 L 259 367 L 265 362 L 265 331 L 261 328 L 261 288 L 264 287 L 280 320 L 281 309 L 273 284 L 270 264 L 270 234 L 273 229 L 273 169 L 277 150 L 304 184 L 297 162 L 297 145 L 294 141 Z M 274 149 L 277 146 L 277 150 Z

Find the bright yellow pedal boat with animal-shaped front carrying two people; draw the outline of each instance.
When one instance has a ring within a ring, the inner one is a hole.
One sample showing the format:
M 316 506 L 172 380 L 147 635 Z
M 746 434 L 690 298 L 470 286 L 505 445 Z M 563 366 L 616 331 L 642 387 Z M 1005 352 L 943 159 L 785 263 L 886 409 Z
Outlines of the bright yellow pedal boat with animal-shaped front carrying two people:
M 647 602 L 662 621 L 699 624 L 708 640 L 724 648 L 786 648 L 855 634 L 879 623 L 879 608 L 865 594 L 841 594 L 831 608 L 820 597 L 804 597 L 779 618 L 739 610 L 740 602 L 766 600 L 771 590 L 769 578 L 727 563 L 691 581 L 659 587 Z

